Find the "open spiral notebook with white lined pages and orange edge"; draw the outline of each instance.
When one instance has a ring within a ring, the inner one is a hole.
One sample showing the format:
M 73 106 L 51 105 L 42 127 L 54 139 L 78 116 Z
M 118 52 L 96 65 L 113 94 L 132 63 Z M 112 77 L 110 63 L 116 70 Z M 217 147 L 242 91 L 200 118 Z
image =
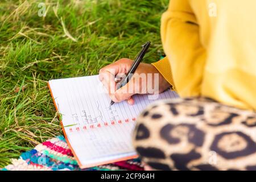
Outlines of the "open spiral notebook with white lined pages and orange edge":
M 65 138 L 81 168 L 137 156 L 131 143 L 136 117 L 155 100 L 136 95 L 133 106 L 123 101 L 109 107 L 110 97 L 98 75 L 50 80 L 48 85 Z M 175 92 L 167 90 L 158 100 L 175 97 Z

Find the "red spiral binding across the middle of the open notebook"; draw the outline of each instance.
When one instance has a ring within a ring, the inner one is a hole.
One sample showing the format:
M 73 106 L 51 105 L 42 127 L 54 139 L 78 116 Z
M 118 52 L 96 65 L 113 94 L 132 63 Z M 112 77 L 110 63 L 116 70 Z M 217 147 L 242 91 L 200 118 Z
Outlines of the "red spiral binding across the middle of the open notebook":
M 132 118 L 131 121 L 135 122 L 136 118 Z M 111 121 L 111 122 L 104 122 L 104 123 L 92 123 L 92 124 L 86 124 L 83 126 L 71 126 L 69 127 L 68 131 L 70 133 L 73 132 L 80 132 L 80 131 L 86 131 L 89 129 L 96 129 L 96 128 L 101 128 L 101 127 L 109 127 L 109 126 L 113 126 L 113 125 L 121 125 L 122 123 L 129 123 L 130 119 L 125 119 L 125 121 L 122 121 L 121 119 L 119 119 L 117 122 L 116 121 Z

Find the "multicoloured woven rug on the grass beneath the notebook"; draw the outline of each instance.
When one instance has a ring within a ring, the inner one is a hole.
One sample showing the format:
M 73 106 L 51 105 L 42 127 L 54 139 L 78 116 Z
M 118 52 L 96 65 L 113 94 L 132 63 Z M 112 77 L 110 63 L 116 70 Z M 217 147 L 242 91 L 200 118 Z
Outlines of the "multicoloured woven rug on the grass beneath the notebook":
M 110 171 L 134 170 L 142 171 L 141 160 L 131 159 L 122 162 L 106 164 L 97 167 L 80 169 L 63 136 L 51 138 L 38 144 L 33 150 L 20 155 L 19 159 L 12 159 L 11 164 L 3 171 L 16 170 L 47 170 L 47 171 Z

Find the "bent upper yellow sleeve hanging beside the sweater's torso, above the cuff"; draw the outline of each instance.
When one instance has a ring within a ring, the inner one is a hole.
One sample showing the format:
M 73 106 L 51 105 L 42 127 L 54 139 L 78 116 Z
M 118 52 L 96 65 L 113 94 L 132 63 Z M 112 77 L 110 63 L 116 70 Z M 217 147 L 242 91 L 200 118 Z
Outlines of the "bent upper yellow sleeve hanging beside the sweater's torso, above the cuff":
M 206 54 L 188 0 L 170 1 L 161 19 L 161 38 L 179 95 L 200 95 Z

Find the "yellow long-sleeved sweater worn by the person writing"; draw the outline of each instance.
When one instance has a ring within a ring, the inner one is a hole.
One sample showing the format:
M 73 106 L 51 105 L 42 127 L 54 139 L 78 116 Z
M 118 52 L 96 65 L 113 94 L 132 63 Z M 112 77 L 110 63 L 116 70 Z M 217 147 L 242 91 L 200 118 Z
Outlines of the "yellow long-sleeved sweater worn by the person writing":
M 255 7 L 255 0 L 170 0 L 161 20 L 168 58 L 153 65 L 181 97 L 256 110 Z

